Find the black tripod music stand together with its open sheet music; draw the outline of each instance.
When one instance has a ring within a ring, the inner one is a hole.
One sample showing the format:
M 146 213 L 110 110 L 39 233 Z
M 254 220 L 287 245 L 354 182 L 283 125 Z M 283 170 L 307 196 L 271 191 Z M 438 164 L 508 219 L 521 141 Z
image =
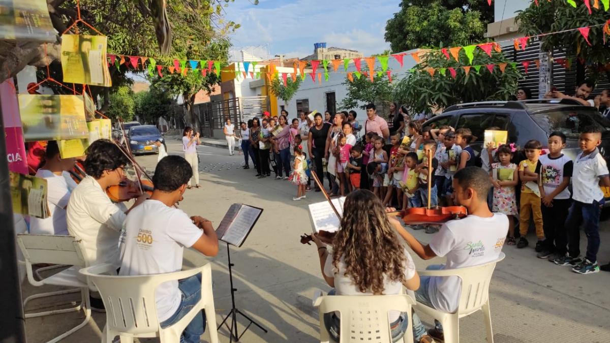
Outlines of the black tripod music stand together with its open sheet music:
M 245 210 L 242 212 L 242 210 Z M 229 263 L 229 282 L 231 283 L 231 311 L 224 317 L 223 321 L 218 325 L 217 330 L 219 330 L 224 322 L 231 317 L 231 325 L 228 325 L 229 329 L 229 342 L 233 342 L 233 338 L 235 338 L 235 342 L 238 342 L 240 338 L 242 338 L 243 334 L 246 333 L 246 330 L 250 327 L 250 325 L 254 324 L 260 328 L 260 330 L 267 330 L 262 327 L 259 323 L 257 323 L 254 319 L 251 319 L 248 315 L 240 311 L 237 307 L 235 307 L 235 292 L 237 292 L 237 288 L 233 287 L 233 271 L 232 267 L 235 264 L 231 263 L 231 249 L 229 249 L 229 244 L 235 245 L 235 247 L 241 247 L 243 242 L 245 242 L 246 237 L 256 224 L 257 220 L 260 217 L 263 209 L 255 208 L 253 206 L 248 206 L 245 204 L 232 204 L 229 211 L 224 215 L 223 220 L 218 225 L 217 234 L 218 239 L 222 240 L 227 245 L 227 258 Z M 248 326 L 243 329 L 242 334 L 239 334 L 237 331 L 237 315 L 242 315 L 245 319 L 248 320 Z

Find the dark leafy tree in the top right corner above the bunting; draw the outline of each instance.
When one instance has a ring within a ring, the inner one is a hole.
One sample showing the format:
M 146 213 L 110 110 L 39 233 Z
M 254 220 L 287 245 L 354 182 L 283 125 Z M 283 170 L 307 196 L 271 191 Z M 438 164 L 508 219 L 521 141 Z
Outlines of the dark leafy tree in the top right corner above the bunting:
M 589 10 L 584 3 L 576 2 L 578 7 L 574 8 L 565 1 L 539 1 L 538 6 L 531 4 L 525 10 L 519 12 L 516 21 L 519 24 L 519 32 L 531 36 L 547 32 L 558 32 L 576 27 L 593 26 L 606 23 L 608 12 L 600 9 Z M 610 59 L 610 46 L 605 43 L 603 26 L 590 27 L 589 45 L 579 31 L 564 32 L 540 37 L 542 51 L 553 51 L 559 49 L 565 51 L 566 56 L 576 63 L 576 78 L 583 80 L 586 76 L 598 79 L 599 71 L 605 71 L 610 81 L 609 68 L 606 63 Z M 530 42 L 531 43 L 531 42 Z M 572 64 L 572 63 L 570 63 Z

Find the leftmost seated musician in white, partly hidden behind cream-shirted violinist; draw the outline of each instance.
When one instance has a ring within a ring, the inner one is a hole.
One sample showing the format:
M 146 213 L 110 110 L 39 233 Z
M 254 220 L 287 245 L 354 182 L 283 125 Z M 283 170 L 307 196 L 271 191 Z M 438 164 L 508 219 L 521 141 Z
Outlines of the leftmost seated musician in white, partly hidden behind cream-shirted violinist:
M 57 142 L 49 140 L 45 156 L 40 161 L 41 167 L 36 172 L 36 176 L 46 179 L 49 217 L 45 219 L 30 217 L 30 233 L 68 234 L 66 207 L 70 200 L 71 189 L 76 188 L 76 184 L 70 176 L 64 174 L 74 168 L 75 161 L 74 158 L 62 159 Z

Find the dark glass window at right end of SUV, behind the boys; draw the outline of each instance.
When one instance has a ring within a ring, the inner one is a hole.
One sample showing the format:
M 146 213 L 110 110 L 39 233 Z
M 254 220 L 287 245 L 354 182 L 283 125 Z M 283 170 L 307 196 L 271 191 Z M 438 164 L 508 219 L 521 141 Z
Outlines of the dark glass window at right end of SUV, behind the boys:
M 532 118 L 547 134 L 560 131 L 569 139 L 578 139 L 580 132 L 590 125 L 600 128 L 604 135 L 610 130 L 610 120 L 601 117 L 593 110 L 553 110 L 534 114 Z

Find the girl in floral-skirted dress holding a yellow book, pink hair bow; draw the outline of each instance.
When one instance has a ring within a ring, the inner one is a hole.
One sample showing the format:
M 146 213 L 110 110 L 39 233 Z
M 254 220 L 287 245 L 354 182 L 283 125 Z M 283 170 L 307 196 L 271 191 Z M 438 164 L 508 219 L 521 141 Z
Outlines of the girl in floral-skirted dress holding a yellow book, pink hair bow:
M 489 176 L 493 184 L 492 212 L 517 217 L 517 196 L 515 186 L 519 183 L 517 165 L 511 162 L 512 149 L 501 145 L 496 151 L 498 162 L 490 165 Z M 508 220 L 508 245 L 515 245 L 515 222 Z

